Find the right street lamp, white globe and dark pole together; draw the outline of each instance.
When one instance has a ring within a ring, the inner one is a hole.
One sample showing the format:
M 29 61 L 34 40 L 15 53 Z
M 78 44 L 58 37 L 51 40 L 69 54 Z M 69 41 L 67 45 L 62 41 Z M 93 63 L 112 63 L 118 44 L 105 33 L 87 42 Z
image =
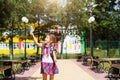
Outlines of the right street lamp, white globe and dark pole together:
M 93 40 L 92 40 L 92 22 L 94 22 L 95 21 L 95 18 L 94 18 L 94 16 L 91 16 L 89 19 L 88 19 L 88 22 L 90 23 L 90 50 L 91 50 L 91 52 L 90 52 L 90 54 L 91 54 L 91 56 L 93 57 Z

